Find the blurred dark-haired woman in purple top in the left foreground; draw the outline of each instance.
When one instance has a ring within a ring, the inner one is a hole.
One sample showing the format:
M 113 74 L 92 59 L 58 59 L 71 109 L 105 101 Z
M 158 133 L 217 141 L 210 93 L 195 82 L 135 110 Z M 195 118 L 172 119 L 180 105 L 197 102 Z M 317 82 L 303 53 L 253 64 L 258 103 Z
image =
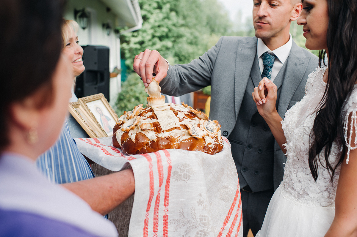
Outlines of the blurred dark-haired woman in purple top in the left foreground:
M 62 9 L 57 0 L 0 2 L 0 236 L 117 236 L 34 165 L 58 138 L 71 97 Z

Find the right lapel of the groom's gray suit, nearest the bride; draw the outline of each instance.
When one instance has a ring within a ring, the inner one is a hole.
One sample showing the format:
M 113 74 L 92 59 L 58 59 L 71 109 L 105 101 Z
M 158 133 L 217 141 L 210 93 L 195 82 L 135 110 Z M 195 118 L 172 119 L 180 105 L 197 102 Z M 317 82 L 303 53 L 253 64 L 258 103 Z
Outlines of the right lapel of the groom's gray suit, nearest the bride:
M 286 70 L 277 109 L 281 117 L 284 117 L 291 98 L 305 74 L 309 61 L 310 59 L 302 53 L 301 48 L 293 41 L 290 55 L 286 61 Z

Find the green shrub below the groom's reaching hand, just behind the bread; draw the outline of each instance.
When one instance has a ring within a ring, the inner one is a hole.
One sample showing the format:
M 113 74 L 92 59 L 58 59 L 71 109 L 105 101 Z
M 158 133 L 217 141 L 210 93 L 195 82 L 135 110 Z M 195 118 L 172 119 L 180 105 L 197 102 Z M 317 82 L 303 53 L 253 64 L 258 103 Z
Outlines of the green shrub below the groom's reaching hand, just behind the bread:
M 136 73 L 131 73 L 125 82 L 122 82 L 121 92 L 115 103 L 116 113 L 119 117 L 124 111 L 131 111 L 138 104 L 144 104 L 143 107 L 146 107 L 148 94 L 144 89 L 144 84 Z

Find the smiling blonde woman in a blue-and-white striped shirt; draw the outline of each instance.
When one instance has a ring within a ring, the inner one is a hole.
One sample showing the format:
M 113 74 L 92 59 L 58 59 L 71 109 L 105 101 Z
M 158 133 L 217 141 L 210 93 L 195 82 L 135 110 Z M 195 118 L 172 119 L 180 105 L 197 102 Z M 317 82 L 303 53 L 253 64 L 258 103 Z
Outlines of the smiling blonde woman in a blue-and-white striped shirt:
M 82 61 L 83 49 L 78 44 L 77 30 L 77 22 L 64 20 L 62 25 L 62 52 L 72 62 L 74 79 L 85 69 Z M 71 183 L 94 177 L 88 162 L 79 152 L 75 141 L 70 135 L 67 121 L 65 121 L 55 145 L 42 154 L 37 159 L 36 164 L 51 182 L 57 184 Z

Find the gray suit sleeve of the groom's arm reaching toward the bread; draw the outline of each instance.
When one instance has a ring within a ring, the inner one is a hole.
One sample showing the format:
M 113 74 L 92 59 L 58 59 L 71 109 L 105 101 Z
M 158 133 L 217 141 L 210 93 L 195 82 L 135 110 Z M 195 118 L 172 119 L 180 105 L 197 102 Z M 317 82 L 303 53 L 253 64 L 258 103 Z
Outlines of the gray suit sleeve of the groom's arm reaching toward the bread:
M 190 63 L 170 65 L 167 76 L 160 82 L 161 92 L 169 96 L 181 96 L 210 86 L 222 39 L 223 37 L 210 50 Z

